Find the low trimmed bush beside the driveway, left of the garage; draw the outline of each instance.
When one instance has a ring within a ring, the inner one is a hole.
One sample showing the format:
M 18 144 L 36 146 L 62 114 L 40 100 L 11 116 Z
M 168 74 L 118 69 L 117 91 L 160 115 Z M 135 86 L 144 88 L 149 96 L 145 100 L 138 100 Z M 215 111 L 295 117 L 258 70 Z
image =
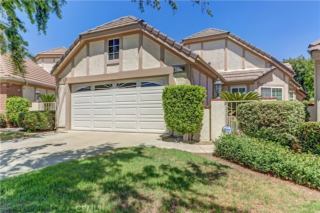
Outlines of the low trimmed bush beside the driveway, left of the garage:
M 18 126 L 28 132 L 53 130 L 55 111 L 30 111 L 19 114 Z

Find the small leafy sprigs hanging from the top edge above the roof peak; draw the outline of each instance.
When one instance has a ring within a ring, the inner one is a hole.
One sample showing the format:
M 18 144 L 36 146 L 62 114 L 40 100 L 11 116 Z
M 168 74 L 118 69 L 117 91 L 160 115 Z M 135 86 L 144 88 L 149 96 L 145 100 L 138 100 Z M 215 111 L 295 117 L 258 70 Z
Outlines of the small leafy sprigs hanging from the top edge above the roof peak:
M 172 11 L 174 15 L 178 9 L 178 4 L 174 0 L 164 0 L 164 1 L 167 2 L 172 7 Z M 160 0 L 131 0 L 131 2 L 138 2 L 139 10 L 141 12 L 144 12 L 144 6 L 150 6 L 153 9 L 156 8 L 157 10 L 161 9 Z M 211 9 L 208 7 L 209 1 L 191 0 L 191 2 L 193 6 L 194 4 L 198 4 L 201 8 L 202 13 L 205 11 L 211 17 L 213 16 L 211 13 Z

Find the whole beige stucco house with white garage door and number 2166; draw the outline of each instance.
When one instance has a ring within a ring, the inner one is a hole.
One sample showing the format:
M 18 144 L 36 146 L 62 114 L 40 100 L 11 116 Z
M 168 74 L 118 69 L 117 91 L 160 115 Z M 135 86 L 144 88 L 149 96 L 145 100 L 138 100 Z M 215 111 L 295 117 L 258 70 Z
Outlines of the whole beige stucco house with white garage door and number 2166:
M 205 105 L 217 79 L 228 91 L 302 100 L 294 72 L 273 56 L 216 29 L 182 44 L 144 20 L 125 16 L 79 34 L 53 66 L 56 127 L 65 130 L 166 132 L 164 85 L 200 85 Z

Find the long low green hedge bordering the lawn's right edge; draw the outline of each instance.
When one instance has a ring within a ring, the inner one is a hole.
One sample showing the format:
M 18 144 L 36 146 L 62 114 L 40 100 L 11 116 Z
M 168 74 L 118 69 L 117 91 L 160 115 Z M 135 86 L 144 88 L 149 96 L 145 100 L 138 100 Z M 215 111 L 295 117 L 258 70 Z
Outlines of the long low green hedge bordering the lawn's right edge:
M 253 170 L 320 189 L 320 157 L 297 154 L 262 139 L 224 135 L 214 142 L 213 155 Z

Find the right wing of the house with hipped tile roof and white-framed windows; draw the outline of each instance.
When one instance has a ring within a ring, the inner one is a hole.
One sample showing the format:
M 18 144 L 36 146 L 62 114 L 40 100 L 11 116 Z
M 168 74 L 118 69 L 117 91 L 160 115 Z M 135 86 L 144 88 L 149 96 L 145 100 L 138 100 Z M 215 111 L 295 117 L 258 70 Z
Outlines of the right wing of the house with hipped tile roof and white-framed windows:
M 220 29 L 205 29 L 182 40 L 225 80 L 223 91 L 256 91 L 263 98 L 299 100 L 306 97 L 301 85 L 293 80 L 292 68 L 244 39 Z M 198 73 L 193 84 L 201 85 Z

